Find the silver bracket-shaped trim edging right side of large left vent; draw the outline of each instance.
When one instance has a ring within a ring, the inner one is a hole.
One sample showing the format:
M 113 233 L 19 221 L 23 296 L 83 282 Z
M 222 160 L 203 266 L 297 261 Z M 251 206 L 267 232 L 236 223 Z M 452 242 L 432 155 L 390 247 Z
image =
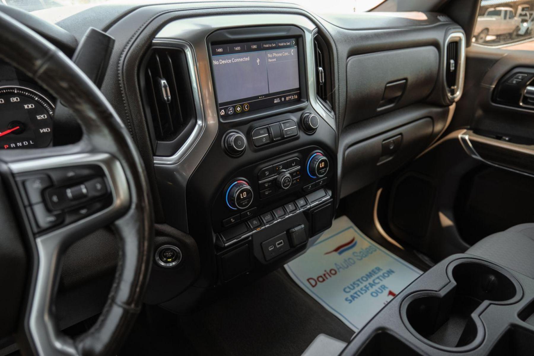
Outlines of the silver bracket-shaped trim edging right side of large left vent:
M 191 133 L 191 136 L 187 138 L 185 143 L 178 149 L 174 155 L 169 157 L 154 156 L 154 164 L 170 165 L 179 163 L 184 157 L 191 152 L 195 144 L 202 136 L 202 132 L 206 126 L 206 120 L 204 117 L 204 111 L 202 108 L 202 101 L 200 100 L 200 83 L 198 80 L 197 64 L 195 59 L 195 53 L 192 45 L 189 42 L 179 41 L 178 39 L 154 39 L 152 46 L 171 46 L 182 49 L 187 58 L 187 69 L 189 69 L 189 77 L 191 81 L 191 90 L 193 93 L 193 101 L 195 103 L 195 113 L 197 113 L 197 123 Z M 215 131 L 216 132 L 216 131 Z

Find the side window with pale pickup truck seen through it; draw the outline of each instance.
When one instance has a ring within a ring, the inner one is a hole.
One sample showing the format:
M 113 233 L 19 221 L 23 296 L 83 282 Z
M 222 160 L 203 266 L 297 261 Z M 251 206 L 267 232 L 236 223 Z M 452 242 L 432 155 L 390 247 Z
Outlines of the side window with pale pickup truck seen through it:
M 534 50 L 533 32 L 534 0 L 481 0 L 473 31 L 475 44 Z

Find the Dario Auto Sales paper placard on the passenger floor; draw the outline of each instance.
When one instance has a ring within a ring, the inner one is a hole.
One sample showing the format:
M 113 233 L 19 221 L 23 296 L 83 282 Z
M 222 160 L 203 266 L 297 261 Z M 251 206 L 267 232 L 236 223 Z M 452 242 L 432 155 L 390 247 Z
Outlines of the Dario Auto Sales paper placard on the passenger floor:
M 285 267 L 302 289 L 354 331 L 422 273 L 367 238 L 345 216 Z

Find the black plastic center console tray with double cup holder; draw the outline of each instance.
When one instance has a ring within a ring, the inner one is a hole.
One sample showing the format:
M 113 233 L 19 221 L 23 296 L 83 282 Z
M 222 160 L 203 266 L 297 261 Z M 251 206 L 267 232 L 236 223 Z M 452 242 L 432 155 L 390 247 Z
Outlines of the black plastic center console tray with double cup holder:
M 472 255 L 422 274 L 359 331 L 353 355 L 532 355 L 534 280 Z

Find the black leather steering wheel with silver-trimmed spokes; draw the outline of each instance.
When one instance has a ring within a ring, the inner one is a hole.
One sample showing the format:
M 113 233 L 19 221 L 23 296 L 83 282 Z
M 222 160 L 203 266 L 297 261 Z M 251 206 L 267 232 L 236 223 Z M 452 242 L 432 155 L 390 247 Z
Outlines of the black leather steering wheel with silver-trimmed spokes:
M 143 162 L 128 130 L 89 78 L 64 53 L 1 12 L 0 58 L 70 108 L 83 130 L 74 145 L 0 152 L 0 205 L 20 221 L 20 231 L 3 227 L 2 239 L 23 235 L 33 255 L 21 334 L 28 351 L 40 355 L 114 355 L 139 313 L 151 267 L 153 210 Z M 61 177 L 69 181 L 86 173 L 100 182 L 97 189 L 107 189 L 106 199 L 90 200 L 78 215 L 66 213 L 61 224 L 43 229 L 54 218 L 40 225 L 36 217 L 43 204 L 32 205 L 35 196 L 25 195 L 25 177 L 50 177 L 52 188 L 63 192 Z M 12 191 L 9 199 L 3 189 Z M 119 243 L 113 287 L 96 324 L 73 339 L 61 333 L 54 314 L 62 257 L 72 243 L 104 226 L 113 228 Z

